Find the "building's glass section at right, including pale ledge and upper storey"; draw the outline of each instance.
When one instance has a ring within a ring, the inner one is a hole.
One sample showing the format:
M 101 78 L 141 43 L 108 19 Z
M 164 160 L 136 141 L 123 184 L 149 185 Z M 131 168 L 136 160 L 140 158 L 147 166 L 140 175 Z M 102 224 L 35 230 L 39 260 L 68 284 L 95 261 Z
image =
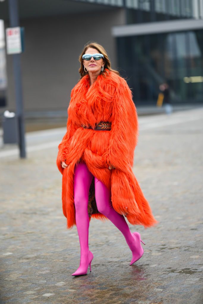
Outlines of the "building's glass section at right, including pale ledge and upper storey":
M 155 105 L 164 82 L 172 103 L 203 102 L 203 1 L 126 0 L 126 7 L 127 25 L 114 36 L 135 103 Z

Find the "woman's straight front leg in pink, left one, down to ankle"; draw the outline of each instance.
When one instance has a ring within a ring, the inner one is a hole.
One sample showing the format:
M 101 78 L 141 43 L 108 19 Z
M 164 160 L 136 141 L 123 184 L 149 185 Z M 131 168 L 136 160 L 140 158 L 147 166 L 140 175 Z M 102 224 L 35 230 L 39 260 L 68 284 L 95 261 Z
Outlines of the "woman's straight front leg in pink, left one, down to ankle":
M 79 163 L 74 170 L 74 203 L 75 221 L 80 242 L 80 266 L 87 260 L 89 252 L 89 215 L 88 199 L 89 187 L 93 174 L 88 170 L 85 163 Z

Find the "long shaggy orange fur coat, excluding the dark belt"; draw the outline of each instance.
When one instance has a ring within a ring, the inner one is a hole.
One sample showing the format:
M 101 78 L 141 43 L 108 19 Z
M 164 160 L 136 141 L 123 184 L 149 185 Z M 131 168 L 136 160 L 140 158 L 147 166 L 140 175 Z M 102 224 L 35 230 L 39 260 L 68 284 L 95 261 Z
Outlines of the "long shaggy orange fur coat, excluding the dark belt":
M 135 104 L 127 82 L 114 72 L 105 71 L 106 78 L 100 74 L 90 86 L 87 74 L 71 91 L 67 132 L 58 146 L 57 156 L 57 166 L 62 174 L 63 213 L 67 228 L 76 224 L 73 175 L 75 165 L 83 161 L 93 176 L 111 190 L 113 208 L 126 216 L 131 224 L 146 228 L 157 221 L 132 171 L 138 137 Z M 94 127 L 100 121 L 110 121 L 111 130 L 81 126 L 89 124 Z M 63 169 L 61 161 L 65 161 L 68 167 Z M 109 164 L 115 169 L 110 170 Z M 94 195 L 94 189 L 91 194 Z M 91 217 L 107 219 L 98 210 L 92 212 L 89 220 Z

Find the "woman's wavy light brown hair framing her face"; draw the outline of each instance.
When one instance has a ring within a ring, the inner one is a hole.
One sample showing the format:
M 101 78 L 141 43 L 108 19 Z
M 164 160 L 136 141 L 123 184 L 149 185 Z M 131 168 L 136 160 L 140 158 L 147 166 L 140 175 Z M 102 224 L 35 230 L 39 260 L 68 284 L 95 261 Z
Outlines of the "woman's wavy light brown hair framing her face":
M 105 71 L 105 68 L 107 68 L 109 71 L 112 71 L 112 72 L 116 73 L 117 75 L 120 75 L 118 71 L 113 70 L 111 68 L 110 59 L 109 59 L 109 57 L 107 55 L 106 50 L 103 48 L 103 46 L 100 45 L 99 43 L 96 43 L 96 42 L 91 42 L 91 43 L 88 42 L 88 43 L 85 44 L 85 46 L 84 46 L 84 48 L 82 50 L 82 53 L 79 56 L 79 62 L 81 64 L 81 67 L 79 68 L 79 73 L 81 75 L 81 78 L 83 76 L 85 76 L 86 74 L 88 74 L 88 72 L 85 72 L 85 70 L 84 70 L 82 55 L 85 54 L 86 50 L 89 47 L 92 47 L 92 48 L 96 49 L 98 51 L 98 53 L 103 54 L 103 56 L 104 56 L 104 59 L 103 59 L 104 62 L 105 62 L 104 69 L 103 69 L 103 72 L 102 71 L 100 72 L 100 74 L 102 74 L 104 77 L 106 77 L 106 74 L 108 75 L 108 71 Z

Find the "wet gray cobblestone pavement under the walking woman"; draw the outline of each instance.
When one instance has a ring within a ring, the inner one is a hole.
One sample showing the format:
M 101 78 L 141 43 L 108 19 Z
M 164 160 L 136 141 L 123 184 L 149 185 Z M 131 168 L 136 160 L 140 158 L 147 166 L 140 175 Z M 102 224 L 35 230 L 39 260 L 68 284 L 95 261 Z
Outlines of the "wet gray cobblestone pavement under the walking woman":
M 91 219 L 92 271 L 80 277 L 71 276 L 79 241 L 62 214 L 57 146 L 29 148 L 25 160 L 0 151 L 1 304 L 201 304 L 202 133 L 202 108 L 140 117 L 134 173 L 159 225 L 128 223 L 146 243 L 129 266 L 120 231 Z

